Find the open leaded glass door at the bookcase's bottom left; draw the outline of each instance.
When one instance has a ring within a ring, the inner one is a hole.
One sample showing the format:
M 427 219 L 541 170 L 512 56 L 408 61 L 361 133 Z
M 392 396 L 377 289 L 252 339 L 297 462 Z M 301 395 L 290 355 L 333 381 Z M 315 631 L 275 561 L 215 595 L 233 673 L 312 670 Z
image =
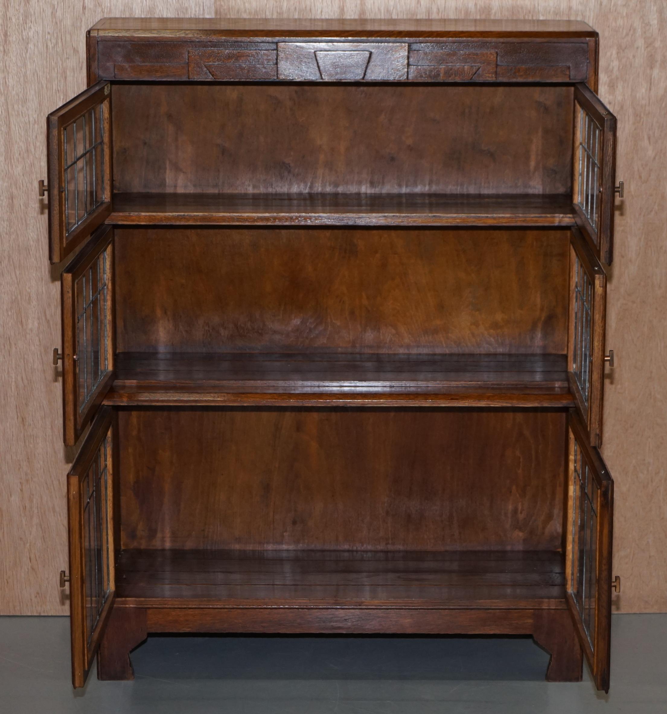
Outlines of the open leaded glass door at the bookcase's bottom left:
M 103 407 L 67 477 L 72 683 L 83 687 L 115 596 L 114 413 Z

